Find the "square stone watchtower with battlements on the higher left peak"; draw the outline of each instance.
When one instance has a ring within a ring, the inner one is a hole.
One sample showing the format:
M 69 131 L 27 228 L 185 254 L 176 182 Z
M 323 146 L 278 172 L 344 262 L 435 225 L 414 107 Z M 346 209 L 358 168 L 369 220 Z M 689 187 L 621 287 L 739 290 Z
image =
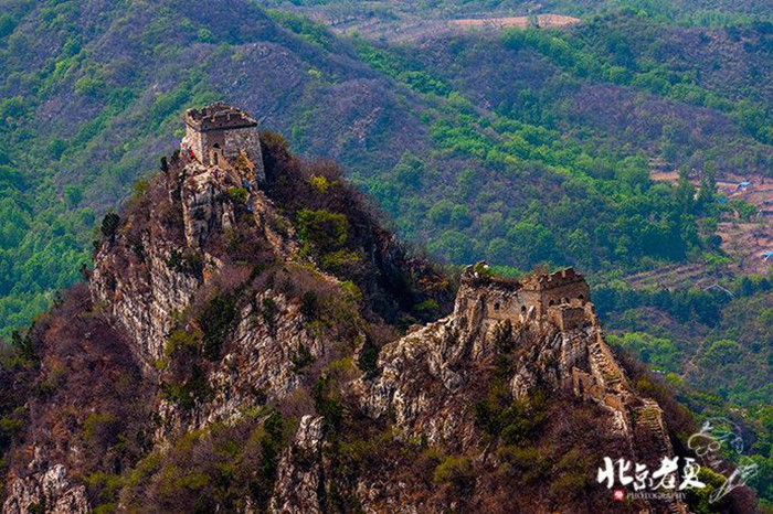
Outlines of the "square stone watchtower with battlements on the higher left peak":
M 216 101 L 202 109 L 188 109 L 183 118 L 183 152 L 190 150 L 202 164 L 227 170 L 243 151 L 255 167 L 257 182 L 265 180 L 257 121 L 245 111 Z

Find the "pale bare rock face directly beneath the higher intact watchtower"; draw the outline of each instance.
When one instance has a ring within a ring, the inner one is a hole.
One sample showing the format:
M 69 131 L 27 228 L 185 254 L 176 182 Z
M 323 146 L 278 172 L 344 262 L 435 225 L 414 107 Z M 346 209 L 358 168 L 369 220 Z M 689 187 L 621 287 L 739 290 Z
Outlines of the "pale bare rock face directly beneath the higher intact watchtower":
M 222 267 L 212 247 L 222 246 L 233 233 L 237 204 L 253 217 L 265 250 L 282 259 L 298 250 L 292 225 L 263 192 L 250 188 L 244 197 L 233 193 L 243 184 L 234 173 L 198 162 L 182 169 L 170 186 L 170 197 L 172 207 L 182 211 L 184 244 L 176 231 L 165 228 L 170 212 L 150 204 L 145 214 L 151 223 L 129 219 L 129 224 L 150 225 L 150 231 L 118 233 L 95 256 L 89 281 L 94 301 L 127 331 L 148 365 L 163 357 L 176 314 Z

